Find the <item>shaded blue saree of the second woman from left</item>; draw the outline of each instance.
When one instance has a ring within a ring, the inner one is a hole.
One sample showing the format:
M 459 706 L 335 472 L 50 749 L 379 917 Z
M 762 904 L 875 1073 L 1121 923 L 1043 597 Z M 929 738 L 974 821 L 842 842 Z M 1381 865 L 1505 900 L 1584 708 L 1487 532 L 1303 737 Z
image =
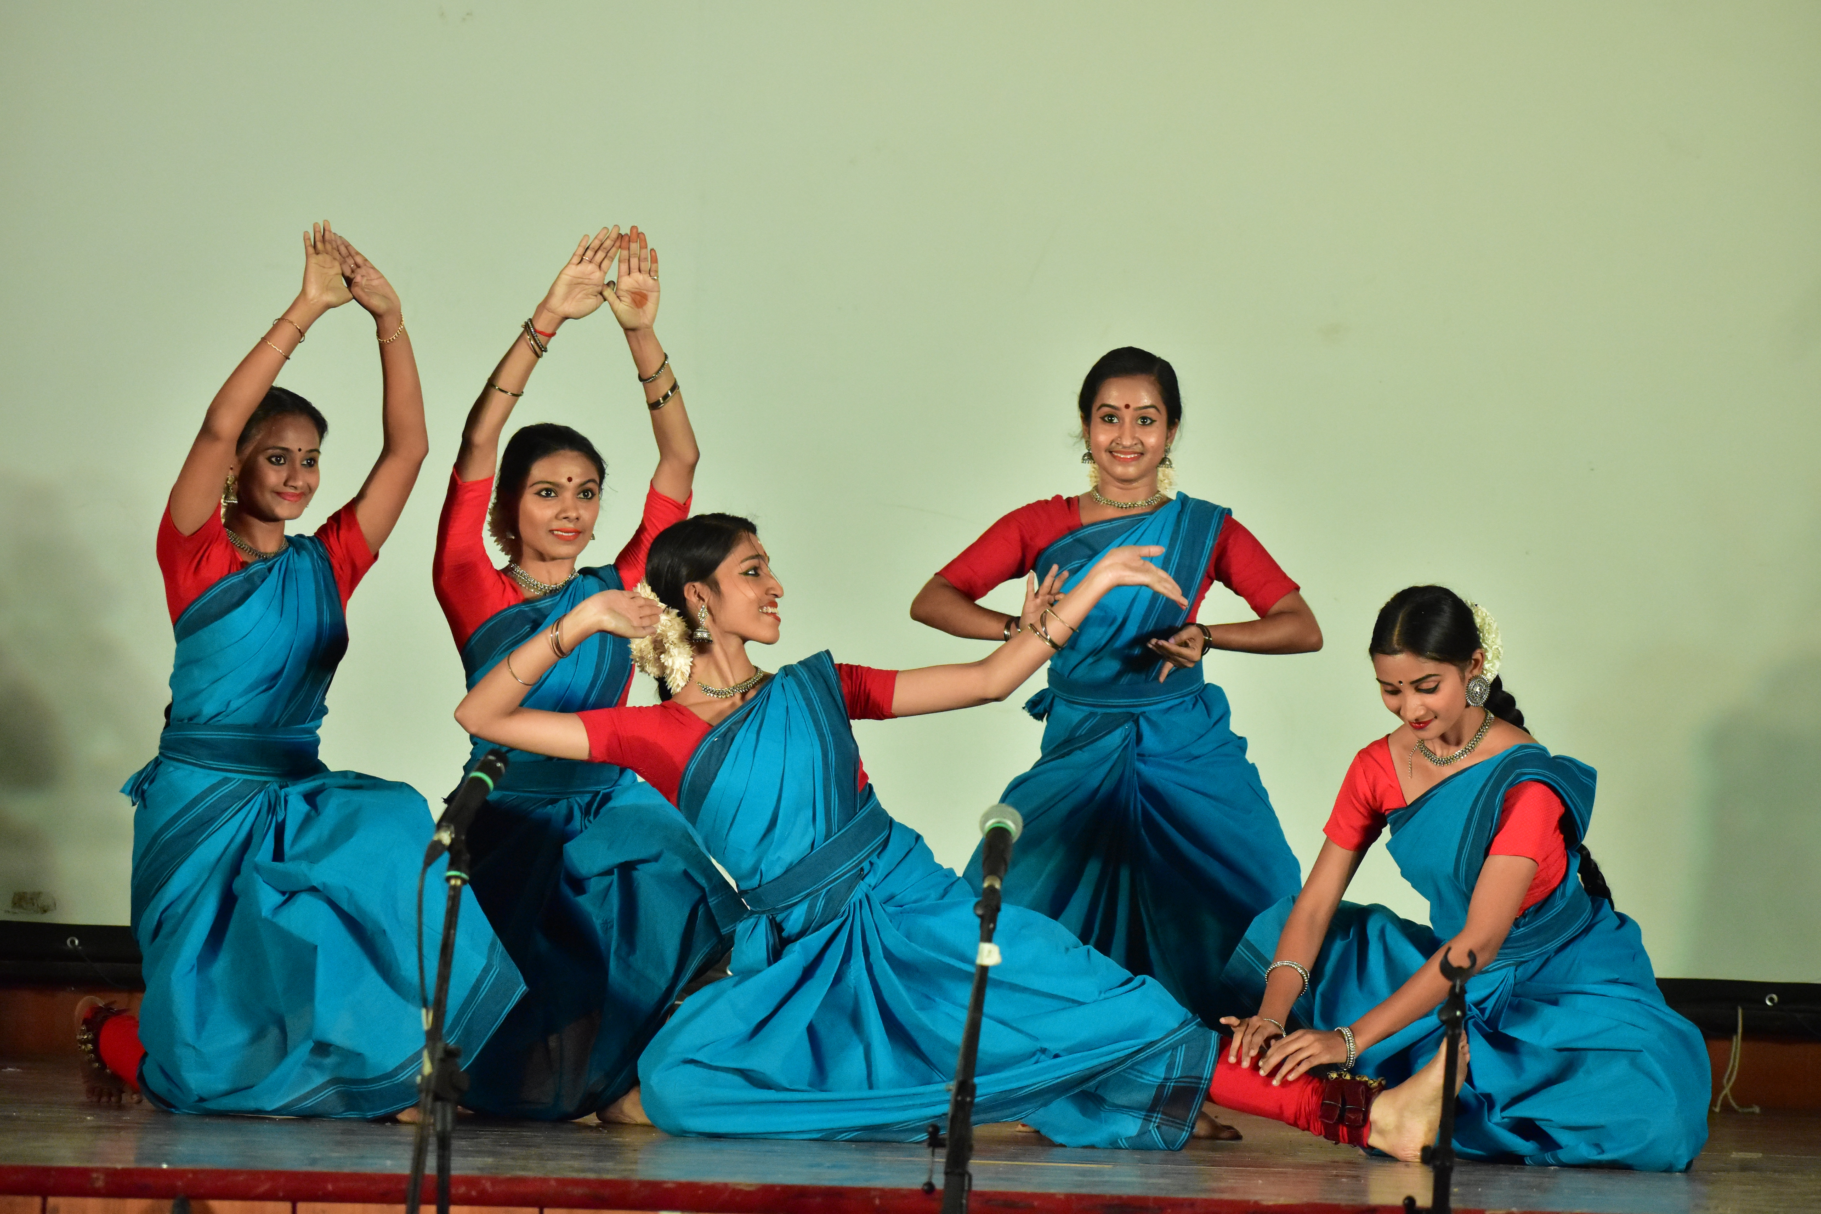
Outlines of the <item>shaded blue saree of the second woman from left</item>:
M 463 646 L 468 686 L 614 568 L 492 615 Z M 614 704 L 632 679 L 626 641 L 597 633 L 526 693 L 528 708 Z M 475 741 L 473 761 L 490 750 Z M 472 1108 L 572 1119 L 637 1083 L 639 1052 L 683 986 L 732 946 L 743 908 L 683 815 L 632 772 L 510 752 L 468 835 L 473 892 L 528 994 L 468 1065 Z

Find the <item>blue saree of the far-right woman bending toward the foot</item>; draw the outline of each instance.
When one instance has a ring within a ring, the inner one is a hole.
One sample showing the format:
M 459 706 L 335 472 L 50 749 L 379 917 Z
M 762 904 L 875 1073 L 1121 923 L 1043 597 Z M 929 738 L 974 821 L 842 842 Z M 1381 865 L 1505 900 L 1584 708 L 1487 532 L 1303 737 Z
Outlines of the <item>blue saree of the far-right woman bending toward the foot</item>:
M 1466 926 L 1499 810 L 1521 781 L 1548 784 L 1568 806 L 1568 872 L 1517 917 L 1497 959 L 1468 979 L 1473 1061 L 1455 1150 L 1470 1159 L 1683 1170 L 1706 1141 L 1706 1047 L 1663 1001 L 1637 923 L 1577 879 L 1593 768 L 1542 746 L 1513 746 L 1391 812 L 1391 857 L 1429 901 L 1433 926 L 1378 905 L 1340 903 L 1293 1027 L 1358 1019 Z M 1260 916 L 1227 963 L 1222 981 L 1251 1008 L 1291 901 Z M 1420 1016 L 1362 1052 L 1358 1070 L 1399 1083 L 1440 1039 L 1437 1019 Z

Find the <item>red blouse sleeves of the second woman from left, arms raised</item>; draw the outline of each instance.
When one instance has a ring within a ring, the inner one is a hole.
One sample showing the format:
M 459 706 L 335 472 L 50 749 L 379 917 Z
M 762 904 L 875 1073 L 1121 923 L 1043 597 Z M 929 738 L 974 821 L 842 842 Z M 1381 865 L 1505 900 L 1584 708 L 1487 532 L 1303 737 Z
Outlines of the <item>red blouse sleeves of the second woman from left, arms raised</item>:
M 481 535 L 492 495 L 493 477 L 463 481 L 452 471 L 450 491 L 443 499 L 443 517 L 437 521 L 437 550 L 430 561 L 430 582 L 435 586 L 437 602 L 443 604 L 450 632 L 455 633 L 457 650 L 468 644 L 475 628 L 499 612 L 524 602 L 524 592 L 512 581 L 512 573 L 493 568 L 493 559 Z M 614 557 L 614 568 L 626 590 L 645 579 L 645 557 L 650 555 L 657 533 L 683 519 L 688 519 L 688 502 L 668 499 L 656 488 L 645 491 L 645 515 L 639 519 L 639 530 Z

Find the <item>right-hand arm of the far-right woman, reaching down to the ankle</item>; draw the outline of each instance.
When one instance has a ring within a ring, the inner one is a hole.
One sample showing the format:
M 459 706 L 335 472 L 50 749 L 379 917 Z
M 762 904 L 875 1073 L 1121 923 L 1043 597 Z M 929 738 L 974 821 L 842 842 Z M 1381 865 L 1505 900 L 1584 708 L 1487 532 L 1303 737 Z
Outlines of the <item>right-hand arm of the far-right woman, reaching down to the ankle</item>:
M 1491 965 L 1504 937 L 1511 934 L 1511 923 L 1517 921 L 1519 906 L 1524 905 L 1524 894 L 1535 875 L 1537 861 L 1526 855 L 1486 857 L 1479 881 L 1473 885 L 1473 901 L 1468 903 L 1466 926 L 1437 948 L 1435 956 L 1424 961 L 1422 968 L 1411 974 L 1389 999 L 1349 1025 L 1360 1054 L 1419 1016 L 1433 1012 L 1448 997 L 1448 979 L 1442 977 L 1440 970 L 1442 957 L 1451 956 L 1455 965 L 1466 965 L 1468 952 L 1471 952 L 1475 974 Z M 1300 988 L 1302 979 L 1297 979 L 1297 985 Z M 1277 1070 L 1278 1083 L 1282 1083 L 1295 1079 L 1309 1067 L 1344 1063 L 1346 1057 L 1346 1039 L 1338 1032 L 1302 1028 L 1275 1041 L 1266 1050 L 1258 1070 L 1262 1074 Z

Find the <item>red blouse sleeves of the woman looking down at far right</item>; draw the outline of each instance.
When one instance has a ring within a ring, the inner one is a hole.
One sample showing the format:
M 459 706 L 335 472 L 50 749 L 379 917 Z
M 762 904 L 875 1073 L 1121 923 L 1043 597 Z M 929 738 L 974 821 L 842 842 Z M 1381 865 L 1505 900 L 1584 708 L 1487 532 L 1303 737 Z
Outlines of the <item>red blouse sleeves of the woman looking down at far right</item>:
M 1391 759 L 1391 741 L 1380 737 L 1353 755 L 1353 766 L 1340 781 L 1335 812 L 1328 815 L 1322 834 L 1349 852 L 1364 852 L 1384 830 L 1386 817 L 1404 804 L 1404 788 L 1397 783 L 1397 763 Z M 1562 839 L 1564 808 L 1553 788 L 1533 779 L 1511 784 L 1504 794 L 1499 828 L 1486 854 L 1537 861 L 1537 875 L 1530 879 L 1519 914 L 1548 897 L 1568 872 L 1568 843 Z

